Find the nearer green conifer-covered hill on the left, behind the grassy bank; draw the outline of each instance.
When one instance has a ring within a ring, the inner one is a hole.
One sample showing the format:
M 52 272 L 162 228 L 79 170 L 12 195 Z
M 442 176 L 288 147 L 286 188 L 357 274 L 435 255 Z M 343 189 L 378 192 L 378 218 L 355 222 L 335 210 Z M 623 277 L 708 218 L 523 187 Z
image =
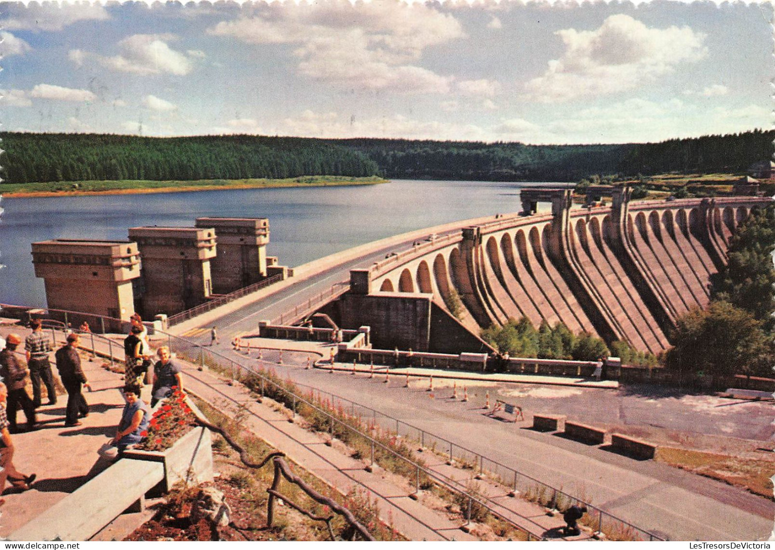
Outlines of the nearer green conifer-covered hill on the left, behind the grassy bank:
M 0 134 L 5 183 L 374 176 L 360 152 L 319 139 Z

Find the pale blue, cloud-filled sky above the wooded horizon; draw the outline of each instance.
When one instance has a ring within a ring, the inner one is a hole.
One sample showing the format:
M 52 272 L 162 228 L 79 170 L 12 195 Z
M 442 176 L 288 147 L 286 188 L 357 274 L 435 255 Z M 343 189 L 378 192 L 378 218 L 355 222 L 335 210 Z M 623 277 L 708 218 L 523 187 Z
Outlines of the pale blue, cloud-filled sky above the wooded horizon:
M 0 3 L 9 132 L 529 144 L 772 128 L 773 7 Z

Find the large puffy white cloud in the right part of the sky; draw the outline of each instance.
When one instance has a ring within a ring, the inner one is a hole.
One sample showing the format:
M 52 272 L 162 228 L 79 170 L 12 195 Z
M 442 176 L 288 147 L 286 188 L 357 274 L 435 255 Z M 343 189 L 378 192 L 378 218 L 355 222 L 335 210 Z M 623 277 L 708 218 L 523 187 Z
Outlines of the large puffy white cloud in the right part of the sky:
M 543 76 L 525 84 L 536 101 L 630 90 L 708 53 L 701 32 L 687 26 L 652 29 L 624 14 L 611 15 L 594 31 L 563 29 L 555 34 L 565 45 L 563 56 L 550 60 Z

